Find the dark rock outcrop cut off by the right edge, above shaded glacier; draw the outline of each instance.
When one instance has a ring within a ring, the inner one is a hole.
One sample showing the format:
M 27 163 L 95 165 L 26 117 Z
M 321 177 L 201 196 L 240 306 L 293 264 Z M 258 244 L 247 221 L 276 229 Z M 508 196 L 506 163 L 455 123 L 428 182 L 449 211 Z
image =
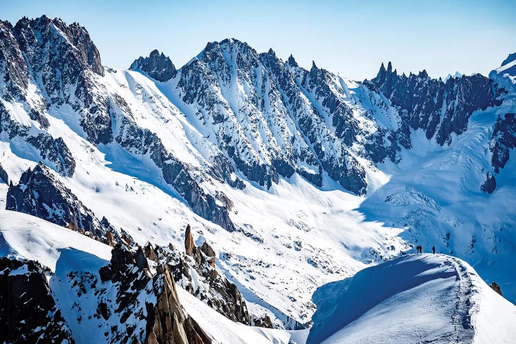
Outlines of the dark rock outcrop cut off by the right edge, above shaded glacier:
M 515 114 L 499 116 L 493 128 L 489 144 L 491 150 L 491 165 L 495 173 L 503 169 L 509 160 L 509 151 L 516 147 L 516 118 Z

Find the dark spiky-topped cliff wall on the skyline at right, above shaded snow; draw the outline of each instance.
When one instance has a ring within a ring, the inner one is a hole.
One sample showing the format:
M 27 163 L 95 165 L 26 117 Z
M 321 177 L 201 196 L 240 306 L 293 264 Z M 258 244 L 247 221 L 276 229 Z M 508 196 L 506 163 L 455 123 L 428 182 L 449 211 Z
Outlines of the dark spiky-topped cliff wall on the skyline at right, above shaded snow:
M 491 80 L 480 74 L 443 82 L 430 78 L 424 70 L 408 77 L 398 75 L 389 62 L 387 69 L 382 64 L 376 78 L 364 84 L 390 100 L 412 129 L 423 129 L 428 139 L 436 138 L 440 145 L 450 144 L 452 133 L 466 131 L 473 111 L 497 104 Z M 405 132 L 405 136 L 409 134 Z

